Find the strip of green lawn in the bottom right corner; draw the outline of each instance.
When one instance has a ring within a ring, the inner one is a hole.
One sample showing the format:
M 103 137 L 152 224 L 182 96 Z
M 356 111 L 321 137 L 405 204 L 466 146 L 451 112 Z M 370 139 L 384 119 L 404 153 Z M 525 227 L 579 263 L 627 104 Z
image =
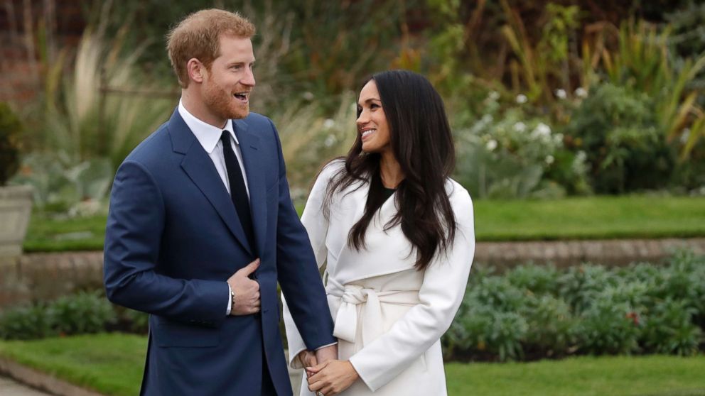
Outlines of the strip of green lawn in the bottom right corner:
M 449 363 L 448 395 L 703 396 L 705 356 L 580 357 Z

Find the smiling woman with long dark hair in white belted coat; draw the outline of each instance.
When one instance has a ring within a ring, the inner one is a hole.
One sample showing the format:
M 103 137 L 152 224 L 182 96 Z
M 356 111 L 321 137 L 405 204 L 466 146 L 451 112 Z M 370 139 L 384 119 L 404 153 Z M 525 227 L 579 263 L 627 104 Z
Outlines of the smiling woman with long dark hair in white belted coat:
M 318 175 L 301 221 L 324 275 L 338 358 L 316 365 L 284 302 L 291 365 L 329 396 L 446 395 L 441 335 L 463 299 L 475 250 L 473 204 L 448 176 L 443 101 L 413 72 L 374 75 L 357 138 Z

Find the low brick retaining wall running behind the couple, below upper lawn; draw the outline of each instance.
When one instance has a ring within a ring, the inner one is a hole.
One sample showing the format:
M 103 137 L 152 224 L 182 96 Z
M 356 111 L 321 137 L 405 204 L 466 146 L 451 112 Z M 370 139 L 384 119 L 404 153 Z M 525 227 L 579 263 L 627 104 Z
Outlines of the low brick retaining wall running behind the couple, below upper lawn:
M 676 249 L 705 254 L 705 238 L 480 242 L 475 268 L 493 265 L 500 270 L 534 262 L 567 267 L 584 262 L 626 265 L 633 261 L 658 263 Z M 22 302 L 54 299 L 77 290 L 102 288 L 102 252 L 34 253 L 0 258 L 0 309 Z

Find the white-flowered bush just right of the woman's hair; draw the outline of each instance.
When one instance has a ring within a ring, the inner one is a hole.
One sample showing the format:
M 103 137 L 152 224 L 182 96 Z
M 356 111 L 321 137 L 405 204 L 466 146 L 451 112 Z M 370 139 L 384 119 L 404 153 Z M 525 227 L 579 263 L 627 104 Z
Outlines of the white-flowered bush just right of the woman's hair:
M 490 92 L 481 118 L 456 130 L 458 182 L 476 198 L 561 197 L 565 190 L 546 177 L 560 166 L 554 172 L 569 174 L 574 188 L 586 192 L 582 157 L 555 163 L 564 151 L 563 135 L 523 107 L 502 111 L 499 99 Z

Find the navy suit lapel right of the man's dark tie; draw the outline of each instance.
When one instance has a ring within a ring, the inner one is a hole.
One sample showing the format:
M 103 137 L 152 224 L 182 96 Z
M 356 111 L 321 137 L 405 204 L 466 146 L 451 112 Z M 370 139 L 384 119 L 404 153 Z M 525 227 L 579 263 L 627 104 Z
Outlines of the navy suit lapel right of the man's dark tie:
M 247 174 L 247 189 L 249 189 L 249 209 L 252 213 L 252 228 L 257 247 L 254 251 L 262 255 L 264 238 L 267 231 L 267 199 L 264 197 L 264 158 L 259 153 L 259 136 L 249 131 L 244 120 L 232 120 L 235 136 L 240 143 L 240 153 L 244 171 Z

